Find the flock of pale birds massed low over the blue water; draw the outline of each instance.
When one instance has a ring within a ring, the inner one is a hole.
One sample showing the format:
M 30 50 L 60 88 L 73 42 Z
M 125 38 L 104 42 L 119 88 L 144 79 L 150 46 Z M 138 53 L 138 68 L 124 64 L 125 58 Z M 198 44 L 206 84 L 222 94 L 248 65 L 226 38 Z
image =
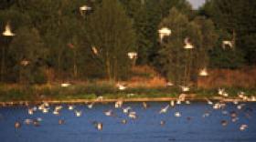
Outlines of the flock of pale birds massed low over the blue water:
M 223 88 L 219 88 L 218 93 L 219 93 L 219 96 L 223 96 L 223 97 L 229 96 L 229 94 Z M 250 96 L 250 97 L 245 96 L 243 92 L 238 93 L 238 97 L 239 97 L 239 99 L 234 99 L 233 102 L 232 102 L 234 105 L 236 105 L 236 108 L 238 109 L 238 111 L 247 109 L 247 111 L 252 112 L 252 109 L 246 107 L 246 104 L 243 103 L 243 102 L 245 102 L 245 101 L 255 102 L 256 97 L 255 96 Z M 102 99 L 103 99 L 103 97 L 99 96 L 98 100 L 102 101 Z M 218 101 L 218 102 L 214 101 L 213 102 L 213 101 L 209 100 L 208 98 L 206 98 L 206 102 L 207 102 L 208 106 L 212 107 L 212 109 L 221 110 L 222 115 L 229 115 L 230 118 L 231 118 L 231 122 L 235 123 L 236 121 L 239 120 L 238 112 L 236 110 L 230 111 L 230 112 L 227 111 L 225 109 L 227 104 L 225 104 L 224 101 Z M 168 105 L 163 106 L 159 110 L 158 114 L 166 114 L 171 107 L 175 107 L 176 105 L 180 105 L 182 103 L 184 103 L 186 105 L 190 104 L 190 101 L 186 100 L 186 96 L 184 94 L 180 95 L 176 100 L 170 101 L 170 103 Z M 89 109 L 91 109 L 93 107 L 94 103 L 91 102 L 91 103 L 87 103 L 86 105 Z M 2 104 L 2 106 L 5 106 L 5 105 Z M 40 111 L 43 114 L 52 113 L 53 115 L 59 116 L 60 112 L 63 108 L 66 108 L 66 109 L 69 109 L 70 111 L 73 111 L 75 117 L 81 117 L 82 114 L 83 114 L 83 112 L 81 110 L 76 109 L 76 106 L 74 106 L 74 105 L 68 105 L 68 106 L 58 105 L 58 106 L 54 106 L 54 108 L 52 109 L 52 107 L 48 104 L 48 102 L 44 102 L 44 103 L 42 103 L 38 106 L 29 106 L 28 104 L 26 104 L 26 106 L 27 106 L 27 114 L 31 115 L 31 116 L 34 115 L 34 113 L 37 112 L 37 111 Z M 144 109 L 149 107 L 149 105 L 146 102 L 143 102 L 142 106 L 144 107 Z M 106 110 L 103 113 L 106 117 L 114 117 L 114 116 L 116 116 L 114 114 L 115 109 L 122 109 L 123 114 L 125 114 L 129 119 L 137 119 L 138 118 L 138 115 L 133 110 L 132 106 L 123 106 L 123 101 L 122 100 L 116 101 L 114 103 L 114 109 Z M 209 115 L 210 115 L 210 112 L 206 111 L 203 114 L 202 117 L 209 117 Z M 182 113 L 179 112 L 179 111 L 176 111 L 174 113 L 174 117 L 182 117 Z M 251 117 L 250 113 L 246 113 L 246 117 Z M 192 117 L 187 117 L 187 120 L 190 120 L 191 118 Z M 42 120 L 43 120 L 42 117 L 37 117 L 36 119 L 26 118 L 22 121 L 16 121 L 15 122 L 15 127 L 20 128 L 20 127 L 22 127 L 23 124 L 24 125 L 33 125 L 35 127 L 38 127 L 38 126 L 40 126 L 40 122 Z M 121 123 L 126 124 L 127 121 L 128 121 L 128 119 L 123 118 Z M 64 119 L 59 119 L 59 125 L 63 125 L 63 124 L 65 124 L 65 120 Z M 228 125 L 228 121 L 227 120 L 221 120 L 220 124 L 223 127 L 226 127 Z M 98 130 L 102 130 L 102 128 L 103 128 L 103 123 L 102 122 L 94 121 L 92 123 L 92 125 Z M 160 125 L 164 126 L 165 125 L 165 120 L 161 120 Z M 248 128 L 247 124 L 240 125 L 240 131 L 243 131 L 247 128 Z

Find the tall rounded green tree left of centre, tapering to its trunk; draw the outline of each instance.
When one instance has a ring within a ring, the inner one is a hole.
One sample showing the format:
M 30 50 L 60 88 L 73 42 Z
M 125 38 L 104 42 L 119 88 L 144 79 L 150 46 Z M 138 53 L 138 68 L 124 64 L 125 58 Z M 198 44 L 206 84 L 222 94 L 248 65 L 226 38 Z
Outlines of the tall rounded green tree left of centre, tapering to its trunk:
M 135 33 L 131 19 L 117 0 L 104 0 L 89 15 L 87 38 L 95 62 L 104 68 L 109 80 L 117 80 L 129 67 L 127 53 L 135 49 Z

